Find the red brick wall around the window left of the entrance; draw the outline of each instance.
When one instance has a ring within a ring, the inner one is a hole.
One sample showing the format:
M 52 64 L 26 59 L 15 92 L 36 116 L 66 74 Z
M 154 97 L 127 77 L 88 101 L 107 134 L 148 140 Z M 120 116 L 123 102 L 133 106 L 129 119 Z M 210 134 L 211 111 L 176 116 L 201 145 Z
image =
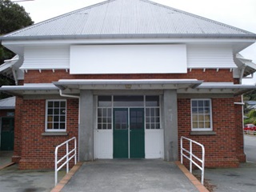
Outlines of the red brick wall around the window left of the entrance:
M 46 100 L 23 100 L 20 169 L 53 169 L 55 146 L 74 136 L 78 138 L 78 99 L 67 100 L 67 136 L 42 136 L 45 110 Z

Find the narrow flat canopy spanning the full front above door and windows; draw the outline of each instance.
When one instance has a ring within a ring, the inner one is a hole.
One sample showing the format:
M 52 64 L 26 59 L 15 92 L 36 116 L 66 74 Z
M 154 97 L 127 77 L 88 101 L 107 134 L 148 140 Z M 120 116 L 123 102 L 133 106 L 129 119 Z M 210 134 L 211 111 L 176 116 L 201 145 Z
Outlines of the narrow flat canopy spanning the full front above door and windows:
M 197 79 L 61 79 L 53 83 L 30 83 L 23 86 L 2 86 L 0 91 L 25 94 L 76 94 L 80 90 L 178 90 L 178 94 L 234 94 L 255 90 L 255 85 L 233 82 L 203 82 Z

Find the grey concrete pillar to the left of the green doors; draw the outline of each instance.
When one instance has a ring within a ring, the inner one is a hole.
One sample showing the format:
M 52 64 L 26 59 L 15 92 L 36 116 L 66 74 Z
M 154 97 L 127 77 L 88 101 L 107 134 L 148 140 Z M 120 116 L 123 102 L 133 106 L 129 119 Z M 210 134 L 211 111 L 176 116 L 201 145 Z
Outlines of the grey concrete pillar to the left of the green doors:
M 79 161 L 94 159 L 94 98 L 91 90 L 80 91 Z

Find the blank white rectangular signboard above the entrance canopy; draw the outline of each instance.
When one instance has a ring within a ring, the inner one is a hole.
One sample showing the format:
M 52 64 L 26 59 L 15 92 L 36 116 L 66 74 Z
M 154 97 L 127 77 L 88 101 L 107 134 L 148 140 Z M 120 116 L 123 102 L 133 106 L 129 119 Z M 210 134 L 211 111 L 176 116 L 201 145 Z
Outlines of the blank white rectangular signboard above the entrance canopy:
M 70 74 L 181 74 L 186 71 L 186 45 L 70 46 Z

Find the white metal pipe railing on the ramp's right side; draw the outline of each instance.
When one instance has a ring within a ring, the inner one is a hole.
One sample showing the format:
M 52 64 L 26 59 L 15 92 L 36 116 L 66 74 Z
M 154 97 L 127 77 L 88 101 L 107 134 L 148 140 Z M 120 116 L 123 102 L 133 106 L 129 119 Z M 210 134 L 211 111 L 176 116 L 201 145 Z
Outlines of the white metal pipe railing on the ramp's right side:
M 186 150 L 183 148 L 183 139 L 186 139 L 187 141 L 190 142 L 190 149 Z M 193 154 L 193 143 L 197 144 L 198 146 L 202 147 L 202 158 L 198 158 L 198 156 L 196 156 L 195 154 Z M 186 152 L 186 154 L 189 154 L 189 157 L 183 153 L 183 151 Z M 205 174 L 205 147 L 199 143 L 199 142 L 195 142 L 190 138 L 185 138 L 182 136 L 181 138 L 181 162 L 183 164 L 183 157 L 187 158 L 190 161 L 190 173 L 192 174 L 192 163 L 197 166 L 200 170 L 202 170 L 202 175 L 201 175 L 201 183 L 203 184 L 203 180 L 204 180 L 204 174 Z M 202 166 L 199 166 L 197 162 L 194 162 L 193 159 L 197 159 L 198 162 L 201 162 Z

